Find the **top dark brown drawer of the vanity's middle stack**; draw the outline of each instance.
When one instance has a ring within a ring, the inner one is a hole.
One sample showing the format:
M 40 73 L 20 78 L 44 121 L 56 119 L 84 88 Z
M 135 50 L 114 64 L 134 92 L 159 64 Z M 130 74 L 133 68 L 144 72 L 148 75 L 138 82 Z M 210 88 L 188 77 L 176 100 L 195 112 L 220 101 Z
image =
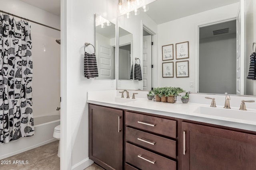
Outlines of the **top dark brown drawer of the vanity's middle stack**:
M 176 121 L 126 111 L 126 125 L 176 138 Z

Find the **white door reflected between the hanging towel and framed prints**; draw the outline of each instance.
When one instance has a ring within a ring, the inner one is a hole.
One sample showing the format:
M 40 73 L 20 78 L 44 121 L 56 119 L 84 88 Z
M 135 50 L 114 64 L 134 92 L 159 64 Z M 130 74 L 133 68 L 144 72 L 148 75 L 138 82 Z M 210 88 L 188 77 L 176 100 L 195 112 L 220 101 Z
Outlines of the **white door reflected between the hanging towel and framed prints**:
M 143 36 L 143 90 L 152 88 L 152 35 Z

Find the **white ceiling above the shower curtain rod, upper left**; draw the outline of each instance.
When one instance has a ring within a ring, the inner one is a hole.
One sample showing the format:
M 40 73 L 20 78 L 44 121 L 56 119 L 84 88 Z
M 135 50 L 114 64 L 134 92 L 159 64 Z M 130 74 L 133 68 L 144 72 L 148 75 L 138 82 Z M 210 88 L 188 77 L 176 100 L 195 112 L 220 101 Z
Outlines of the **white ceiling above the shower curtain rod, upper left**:
M 20 0 L 57 16 L 60 16 L 60 0 Z

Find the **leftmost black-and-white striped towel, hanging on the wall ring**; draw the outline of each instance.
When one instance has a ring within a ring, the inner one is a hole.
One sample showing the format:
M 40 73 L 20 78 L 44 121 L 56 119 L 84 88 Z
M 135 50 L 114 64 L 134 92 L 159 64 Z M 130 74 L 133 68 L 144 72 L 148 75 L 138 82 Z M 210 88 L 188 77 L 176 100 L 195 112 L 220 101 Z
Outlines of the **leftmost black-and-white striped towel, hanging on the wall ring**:
M 98 67 L 95 54 L 84 53 L 84 77 L 98 77 Z

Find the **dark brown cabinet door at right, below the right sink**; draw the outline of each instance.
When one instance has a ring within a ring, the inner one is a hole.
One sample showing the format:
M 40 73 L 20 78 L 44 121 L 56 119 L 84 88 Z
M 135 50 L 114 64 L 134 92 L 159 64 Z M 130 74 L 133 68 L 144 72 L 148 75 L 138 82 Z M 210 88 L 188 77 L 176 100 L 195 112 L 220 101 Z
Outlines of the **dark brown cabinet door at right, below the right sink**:
M 182 122 L 182 170 L 255 170 L 256 135 Z

